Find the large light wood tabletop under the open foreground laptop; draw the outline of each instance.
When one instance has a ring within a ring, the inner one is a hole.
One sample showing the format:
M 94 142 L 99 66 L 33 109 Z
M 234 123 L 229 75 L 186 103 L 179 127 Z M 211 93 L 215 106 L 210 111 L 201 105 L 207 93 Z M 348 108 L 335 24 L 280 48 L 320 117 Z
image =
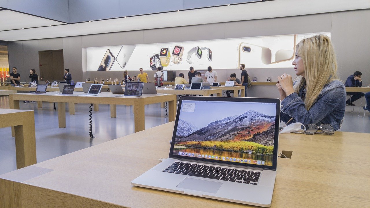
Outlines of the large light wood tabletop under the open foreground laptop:
M 173 126 L 163 124 L 0 175 L 0 207 L 252 207 L 131 185 L 159 158 L 168 157 Z M 282 150 L 293 154 L 277 159 L 271 207 L 369 207 L 369 134 L 281 134 Z

